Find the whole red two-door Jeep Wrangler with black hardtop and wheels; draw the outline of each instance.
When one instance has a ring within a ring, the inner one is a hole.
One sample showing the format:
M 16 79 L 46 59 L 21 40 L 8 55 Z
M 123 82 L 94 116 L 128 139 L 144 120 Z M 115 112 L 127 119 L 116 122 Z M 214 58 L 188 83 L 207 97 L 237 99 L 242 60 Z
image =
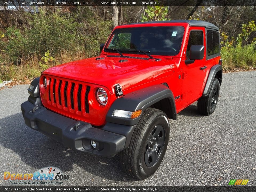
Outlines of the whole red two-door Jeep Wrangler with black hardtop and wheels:
M 204 21 L 115 27 L 99 57 L 47 69 L 21 104 L 25 123 L 71 149 L 113 157 L 137 179 L 159 167 L 168 118 L 198 101 L 214 112 L 222 81 L 219 28 Z

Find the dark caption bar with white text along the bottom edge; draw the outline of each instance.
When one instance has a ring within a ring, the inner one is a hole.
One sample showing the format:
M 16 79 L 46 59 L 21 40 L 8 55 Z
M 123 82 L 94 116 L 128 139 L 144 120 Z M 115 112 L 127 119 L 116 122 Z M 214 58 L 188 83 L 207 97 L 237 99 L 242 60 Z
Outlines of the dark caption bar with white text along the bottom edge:
M 0 187 L 0 191 L 121 191 L 121 192 L 255 192 L 256 187 L 229 186 L 229 187 Z

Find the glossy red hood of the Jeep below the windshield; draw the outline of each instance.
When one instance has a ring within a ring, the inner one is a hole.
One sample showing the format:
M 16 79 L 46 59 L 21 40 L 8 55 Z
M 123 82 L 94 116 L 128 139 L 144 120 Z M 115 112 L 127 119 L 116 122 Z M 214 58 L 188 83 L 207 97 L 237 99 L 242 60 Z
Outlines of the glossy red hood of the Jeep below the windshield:
M 145 82 L 166 77 L 170 75 L 171 65 L 174 64 L 170 59 L 155 61 L 123 57 L 104 57 L 99 60 L 96 58 L 64 63 L 51 67 L 42 74 L 102 85 L 114 93 L 117 84 L 125 91 Z

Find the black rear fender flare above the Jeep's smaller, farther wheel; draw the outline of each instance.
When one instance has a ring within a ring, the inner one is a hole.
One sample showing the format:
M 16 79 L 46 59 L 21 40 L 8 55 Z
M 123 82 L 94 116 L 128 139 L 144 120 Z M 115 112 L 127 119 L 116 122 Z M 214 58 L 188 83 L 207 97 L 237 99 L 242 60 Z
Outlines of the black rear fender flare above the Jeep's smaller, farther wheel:
M 209 94 L 211 85 L 213 83 L 213 80 L 214 80 L 216 74 L 219 71 L 221 71 L 221 76 L 219 77 L 219 81 L 220 81 L 220 84 L 221 84 L 221 80 L 222 80 L 222 65 L 216 64 L 216 65 L 211 67 L 211 70 L 210 70 L 209 75 L 208 75 L 207 82 L 205 84 L 205 89 L 203 91 L 203 96 L 207 96 Z

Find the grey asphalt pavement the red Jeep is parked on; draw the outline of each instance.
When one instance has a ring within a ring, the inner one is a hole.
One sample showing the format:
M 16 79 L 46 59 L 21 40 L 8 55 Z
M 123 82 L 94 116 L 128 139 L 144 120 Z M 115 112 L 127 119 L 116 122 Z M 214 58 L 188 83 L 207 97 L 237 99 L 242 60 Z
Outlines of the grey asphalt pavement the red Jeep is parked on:
M 118 156 L 70 150 L 27 127 L 20 109 L 27 87 L 0 90 L 0 186 L 11 186 L 3 180 L 5 171 L 34 173 L 46 166 L 70 174 L 62 186 L 227 186 L 230 179 L 256 186 L 256 71 L 223 74 L 212 115 L 198 114 L 194 103 L 170 120 L 163 162 L 143 181 L 127 177 Z

